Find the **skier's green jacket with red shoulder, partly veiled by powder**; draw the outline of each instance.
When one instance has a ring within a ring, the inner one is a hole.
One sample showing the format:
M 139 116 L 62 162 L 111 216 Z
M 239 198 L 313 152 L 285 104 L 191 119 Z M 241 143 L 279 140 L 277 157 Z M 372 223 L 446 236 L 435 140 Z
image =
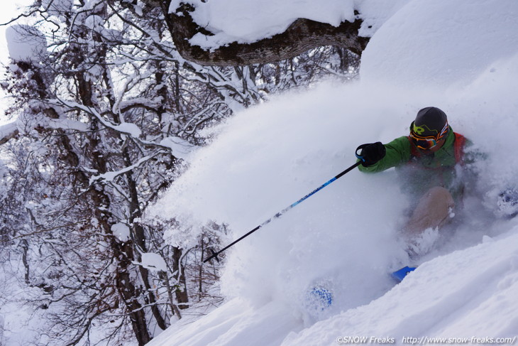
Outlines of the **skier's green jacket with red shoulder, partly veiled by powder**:
M 375 173 L 395 167 L 399 175 L 402 175 L 404 189 L 415 197 L 423 195 L 434 186 L 442 186 L 450 190 L 453 198 L 457 199 L 462 194 L 463 185 L 456 177 L 454 141 L 455 134 L 451 130 L 438 151 L 426 154 L 416 148 L 422 155 L 415 157 L 412 156 L 408 137 L 402 136 L 385 144 L 384 158 L 373 166 L 360 165 L 358 169 L 366 173 Z

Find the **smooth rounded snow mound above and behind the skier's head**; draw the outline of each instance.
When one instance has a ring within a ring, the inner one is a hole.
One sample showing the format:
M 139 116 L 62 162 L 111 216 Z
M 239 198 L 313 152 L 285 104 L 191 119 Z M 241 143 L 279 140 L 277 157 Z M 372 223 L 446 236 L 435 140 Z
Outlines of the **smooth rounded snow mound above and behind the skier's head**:
M 517 53 L 517 18 L 514 0 L 411 1 L 371 39 L 362 55 L 362 80 L 465 85 Z M 379 49 L 387 42 L 390 48 Z

